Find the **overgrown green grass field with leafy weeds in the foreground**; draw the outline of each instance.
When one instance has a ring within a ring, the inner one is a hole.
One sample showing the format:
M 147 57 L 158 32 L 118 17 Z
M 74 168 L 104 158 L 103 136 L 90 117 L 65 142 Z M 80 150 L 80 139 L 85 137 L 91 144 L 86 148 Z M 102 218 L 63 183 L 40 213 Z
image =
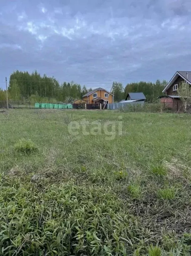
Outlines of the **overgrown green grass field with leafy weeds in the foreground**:
M 0 255 L 190 255 L 190 163 L 189 114 L 0 113 Z

